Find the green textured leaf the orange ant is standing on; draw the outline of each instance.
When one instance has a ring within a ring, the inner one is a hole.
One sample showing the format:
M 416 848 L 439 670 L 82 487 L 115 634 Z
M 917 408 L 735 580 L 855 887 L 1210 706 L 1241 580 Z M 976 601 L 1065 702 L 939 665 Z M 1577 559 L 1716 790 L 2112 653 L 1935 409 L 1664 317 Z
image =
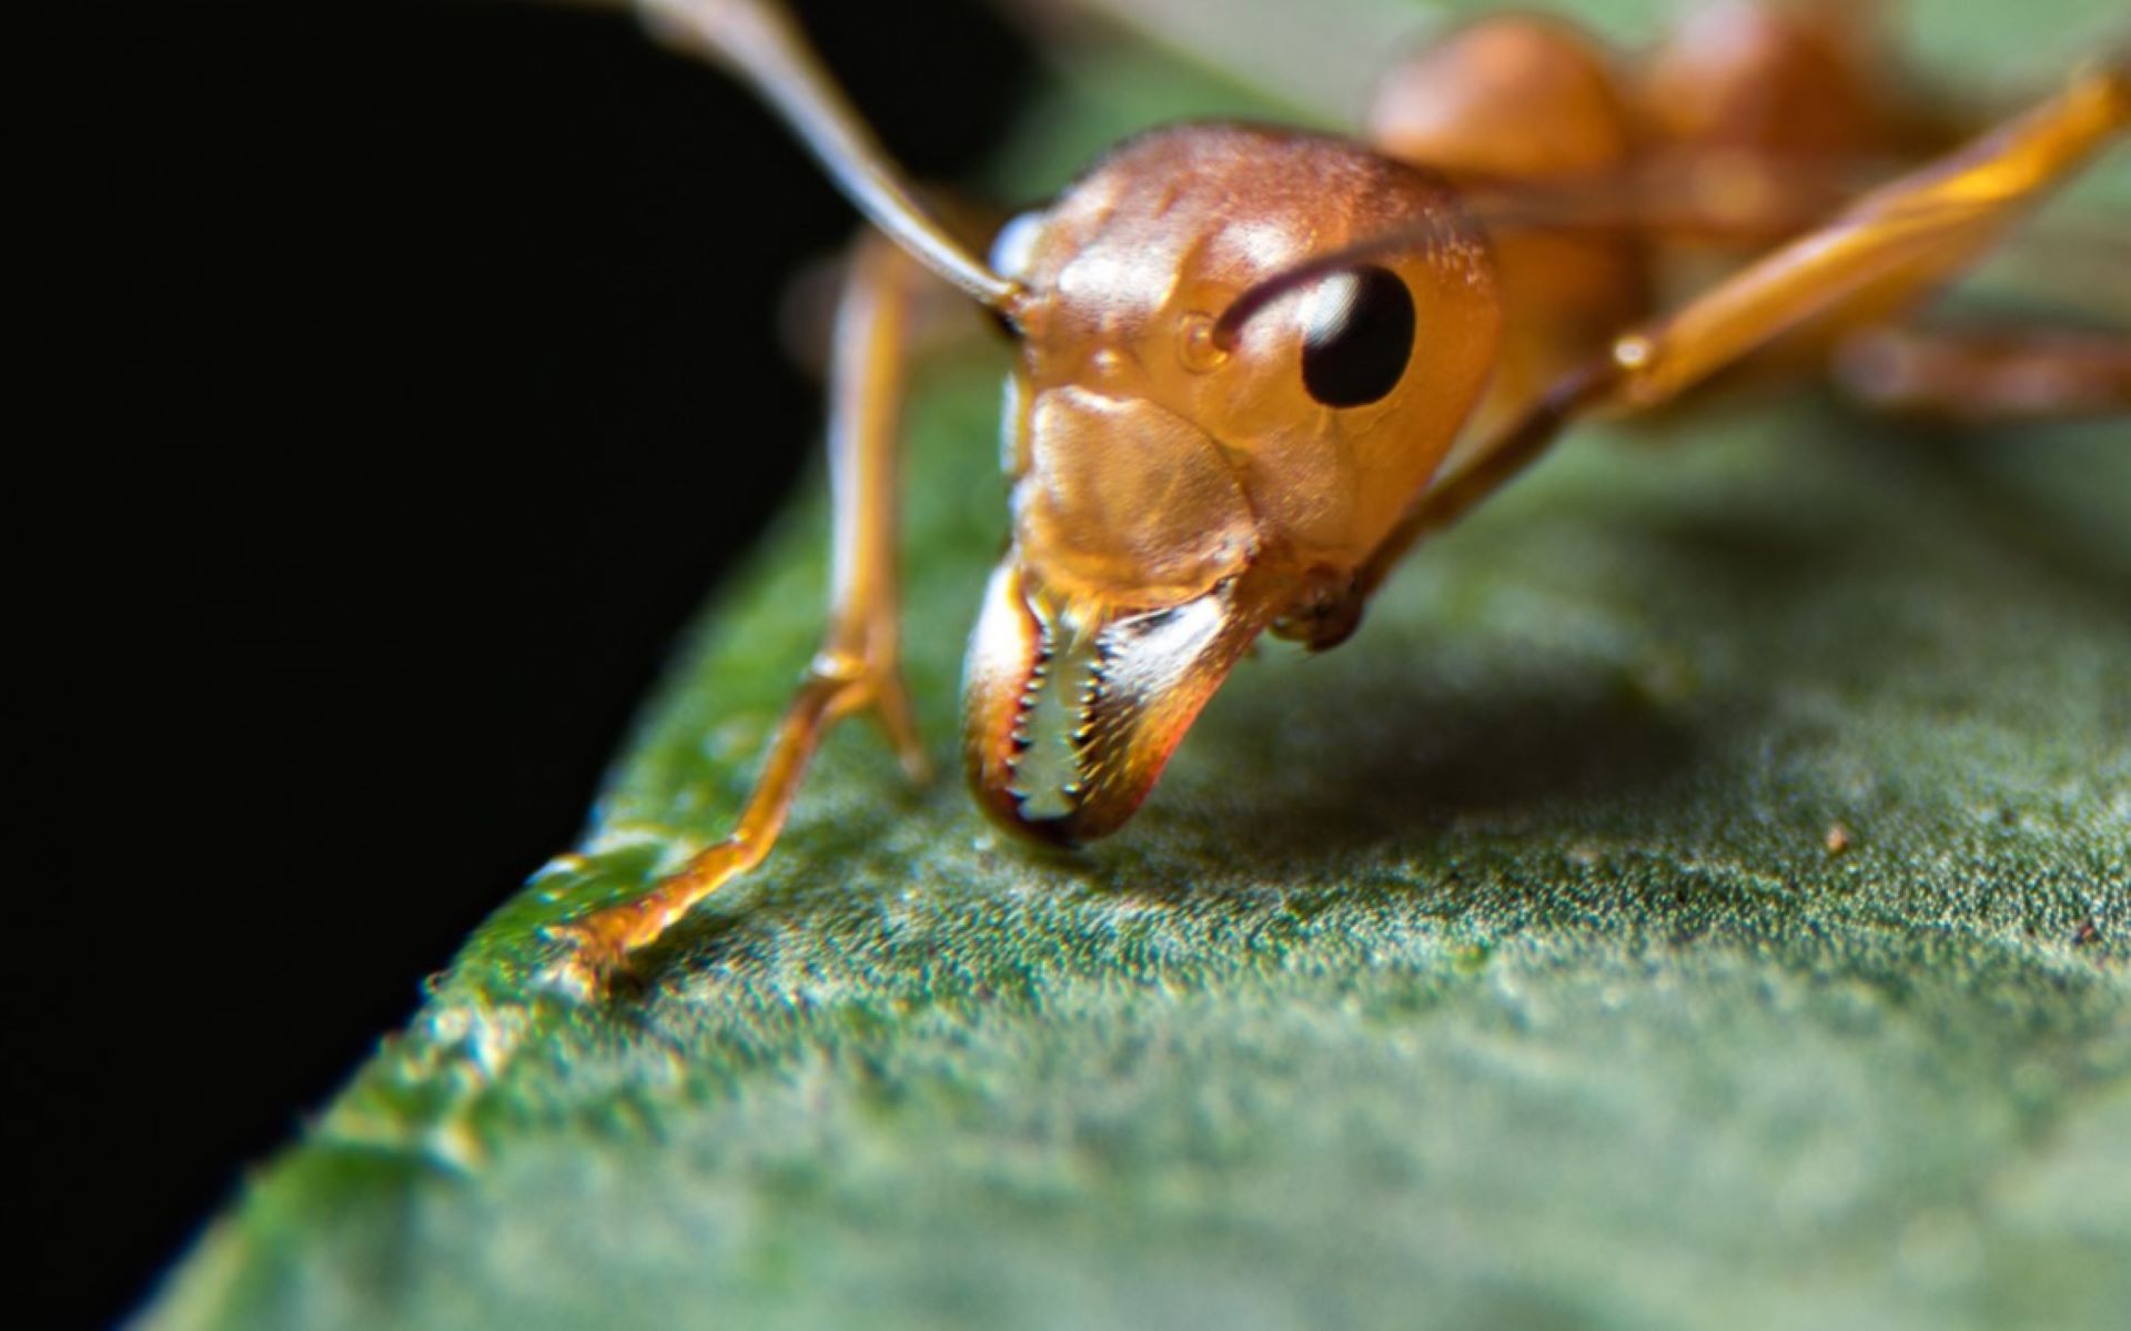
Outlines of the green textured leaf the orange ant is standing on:
M 1102 115 L 1008 183 L 1198 87 L 1151 68 L 1085 68 Z M 948 770 L 997 373 L 912 412 Z M 641 990 L 541 990 L 541 928 L 739 804 L 818 631 L 808 499 L 580 853 L 145 1320 L 2120 1325 L 2127 442 L 1813 399 L 1585 431 L 1351 646 L 1238 670 L 1115 843 L 1008 845 L 850 727 Z

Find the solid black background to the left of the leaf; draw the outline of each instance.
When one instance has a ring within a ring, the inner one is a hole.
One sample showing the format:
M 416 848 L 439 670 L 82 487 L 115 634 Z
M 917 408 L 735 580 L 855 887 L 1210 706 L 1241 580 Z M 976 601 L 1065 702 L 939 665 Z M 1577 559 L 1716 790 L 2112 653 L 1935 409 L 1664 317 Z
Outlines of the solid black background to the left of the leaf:
M 87 471 L 47 563 L 90 832 L 38 887 L 26 1099 L 66 1160 L 36 1273 L 100 1322 L 575 836 L 808 461 L 771 320 L 852 215 L 624 19 L 83 9 L 28 282 Z M 801 13 L 921 175 L 1029 73 L 970 0 Z

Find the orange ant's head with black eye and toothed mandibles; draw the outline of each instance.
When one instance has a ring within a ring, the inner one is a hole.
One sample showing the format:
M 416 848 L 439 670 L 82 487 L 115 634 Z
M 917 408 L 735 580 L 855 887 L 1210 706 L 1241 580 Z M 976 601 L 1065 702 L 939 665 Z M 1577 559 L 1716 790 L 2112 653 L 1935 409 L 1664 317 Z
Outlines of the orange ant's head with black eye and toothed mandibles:
M 1245 126 L 1125 143 L 991 267 L 1023 350 L 970 779 L 1008 828 L 1087 840 L 1138 808 L 1259 631 L 1351 627 L 1328 602 L 1494 365 L 1494 271 L 1434 177 Z

